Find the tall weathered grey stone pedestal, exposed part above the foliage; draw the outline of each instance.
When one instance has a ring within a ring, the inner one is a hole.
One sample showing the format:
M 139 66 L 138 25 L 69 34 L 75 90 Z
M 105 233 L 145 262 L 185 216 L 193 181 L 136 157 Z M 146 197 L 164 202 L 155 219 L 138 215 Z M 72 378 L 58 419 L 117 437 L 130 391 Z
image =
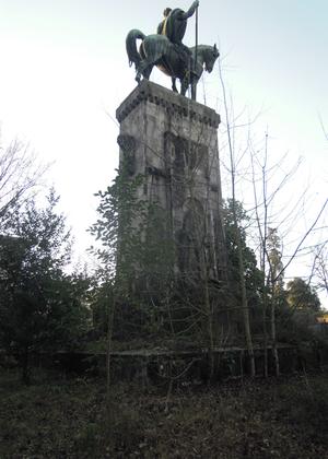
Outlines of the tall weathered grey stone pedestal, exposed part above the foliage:
M 143 80 L 116 111 L 120 161 L 143 175 L 140 199 L 166 212 L 176 246 L 174 272 L 225 273 L 218 152 L 220 116 L 211 108 Z

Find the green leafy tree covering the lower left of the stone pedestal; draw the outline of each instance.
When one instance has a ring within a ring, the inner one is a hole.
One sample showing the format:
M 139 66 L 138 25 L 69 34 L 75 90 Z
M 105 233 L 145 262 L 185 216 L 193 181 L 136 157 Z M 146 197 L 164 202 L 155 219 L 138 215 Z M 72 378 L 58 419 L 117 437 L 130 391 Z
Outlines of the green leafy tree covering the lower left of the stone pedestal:
M 157 202 L 140 196 L 144 179 L 142 175 L 131 177 L 122 163 L 113 185 L 96 193 L 98 219 L 90 228 L 99 243 L 91 250 L 101 261 L 92 304 L 95 327 L 98 332 L 107 330 L 104 320 L 108 298 L 114 296 L 118 307 L 113 331 L 120 339 L 157 330 L 161 302 L 172 275 L 174 252 L 167 219 Z

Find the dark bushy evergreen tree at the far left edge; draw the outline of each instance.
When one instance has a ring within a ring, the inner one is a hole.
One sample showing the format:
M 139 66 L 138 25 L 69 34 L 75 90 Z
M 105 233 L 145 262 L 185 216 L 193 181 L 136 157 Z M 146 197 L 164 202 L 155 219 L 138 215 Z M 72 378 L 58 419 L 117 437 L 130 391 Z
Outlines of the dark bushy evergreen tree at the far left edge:
M 89 281 L 65 272 L 71 237 L 58 200 L 54 190 L 43 209 L 28 200 L 0 239 L 0 342 L 20 357 L 26 381 L 32 352 L 72 346 L 87 327 Z

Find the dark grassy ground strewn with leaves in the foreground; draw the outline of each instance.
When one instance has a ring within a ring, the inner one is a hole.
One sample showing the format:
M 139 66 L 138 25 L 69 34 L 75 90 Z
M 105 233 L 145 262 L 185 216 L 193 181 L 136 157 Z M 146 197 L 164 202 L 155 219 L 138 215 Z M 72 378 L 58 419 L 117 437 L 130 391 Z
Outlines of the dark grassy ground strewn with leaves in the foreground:
M 0 458 L 328 458 L 328 376 L 141 390 L 0 376 Z

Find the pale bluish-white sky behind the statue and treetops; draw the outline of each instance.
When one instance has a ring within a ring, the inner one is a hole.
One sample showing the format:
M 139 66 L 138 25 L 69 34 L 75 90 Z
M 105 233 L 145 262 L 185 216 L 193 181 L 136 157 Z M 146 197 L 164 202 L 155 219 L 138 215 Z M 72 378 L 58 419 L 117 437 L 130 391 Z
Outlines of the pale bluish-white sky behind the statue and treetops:
M 49 181 L 61 195 L 80 252 L 91 242 L 85 228 L 95 220 L 93 193 L 109 184 L 118 165 L 116 108 L 136 86 L 126 35 L 131 28 L 154 33 L 166 7 L 190 4 L 0 0 L 2 133 L 55 162 Z M 218 44 L 235 107 L 247 107 L 250 117 L 261 113 L 253 129 L 261 136 L 269 127 L 277 157 L 286 151 L 304 157 L 303 178 L 318 205 L 328 181 L 328 142 L 319 121 L 328 130 L 327 20 L 327 0 L 200 0 L 199 7 L 199 43 Z M 195 45 L 195 17 L 185 44 Z M 157 70 L 151 80 L 171 86 Z M 207 105 L 220 113 L 218 68 L 202 85 Z M 300 235 L 306 223 L 311 217 Z M 295 267 L 290 275 L 301 271 Z

